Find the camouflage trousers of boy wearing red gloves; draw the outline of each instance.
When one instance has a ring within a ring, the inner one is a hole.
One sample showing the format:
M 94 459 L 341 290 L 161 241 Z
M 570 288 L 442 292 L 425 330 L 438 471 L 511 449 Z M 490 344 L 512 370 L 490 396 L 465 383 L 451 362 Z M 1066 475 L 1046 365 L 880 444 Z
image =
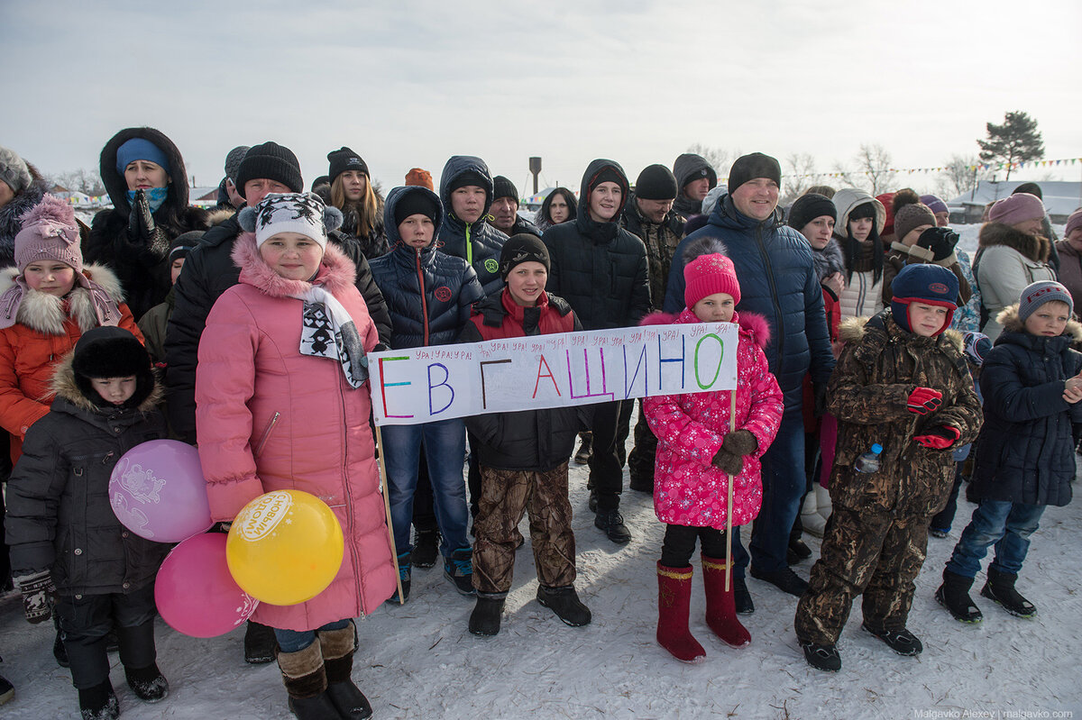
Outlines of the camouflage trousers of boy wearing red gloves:
M 874 629 L 905 628 L 913 581 L 924 564 L 929 522 L 924 515 L 897 518 L 835 505 L 821 557 L 796 605 L 797 639 L 836 644 L 853 599 L 860 594 L 865 624 Z

